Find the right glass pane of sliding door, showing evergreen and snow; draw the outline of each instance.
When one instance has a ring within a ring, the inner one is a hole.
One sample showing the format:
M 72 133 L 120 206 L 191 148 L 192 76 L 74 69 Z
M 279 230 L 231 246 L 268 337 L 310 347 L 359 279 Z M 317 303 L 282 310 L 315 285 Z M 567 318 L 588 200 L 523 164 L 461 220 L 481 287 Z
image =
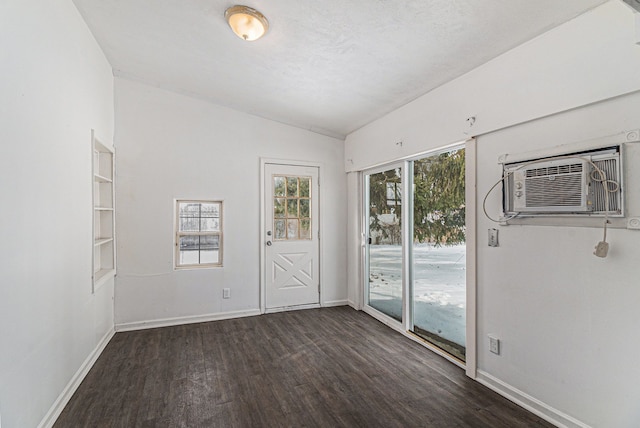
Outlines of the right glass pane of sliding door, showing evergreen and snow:
M 465 360 L 465 151 L 413 161 L 410 330 Z

